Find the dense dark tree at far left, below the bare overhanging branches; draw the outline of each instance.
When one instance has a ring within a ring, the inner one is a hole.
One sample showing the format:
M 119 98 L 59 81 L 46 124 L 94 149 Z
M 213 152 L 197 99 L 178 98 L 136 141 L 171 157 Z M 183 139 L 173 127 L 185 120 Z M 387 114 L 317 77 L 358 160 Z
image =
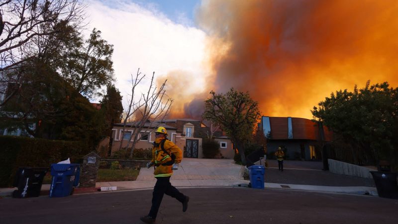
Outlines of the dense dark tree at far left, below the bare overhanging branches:
M 59 109 L 67 96 L 63 80 L 36 57 L 29 58 L 15 72 L 23 74 L 19 79 L 21 90 L 1 107 L 3 124 L 22 128 L 34 137 L 53 139 L 49 126 L 56 122 L 57 117 L 66 115 Z

